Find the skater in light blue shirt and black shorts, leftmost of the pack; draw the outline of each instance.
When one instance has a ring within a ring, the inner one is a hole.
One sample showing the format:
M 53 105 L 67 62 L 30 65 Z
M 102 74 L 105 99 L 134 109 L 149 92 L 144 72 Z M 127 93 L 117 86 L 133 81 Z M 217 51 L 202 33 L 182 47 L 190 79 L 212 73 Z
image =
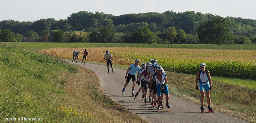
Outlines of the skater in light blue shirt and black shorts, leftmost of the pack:
M 140 59 L 135 59 L 135 63 L 130 65 L 130 67 L 127 69 L 127 72 L 125 74 L 126 83 L 124 84 L 124 88 L 122 90 L 122 93 L 124 94 L 126 86 L 129 84 L 129 81 L 132 79 L 132 97 L 134 97 L 134 88 L 135 88 L 135 74 L 138 70 L 140 70 L 140 66 L 138 65 L 140 62 Z M 128 76 L 127 76 L 128 74 Z

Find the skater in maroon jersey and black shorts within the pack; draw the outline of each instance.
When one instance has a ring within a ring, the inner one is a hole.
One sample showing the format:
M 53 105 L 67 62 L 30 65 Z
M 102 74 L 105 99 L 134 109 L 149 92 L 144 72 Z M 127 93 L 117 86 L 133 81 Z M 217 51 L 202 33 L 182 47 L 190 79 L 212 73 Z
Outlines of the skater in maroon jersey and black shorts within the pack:
M 150 82 L 150 77 L 148 76 L 148 67 L 151 66 L 152 64 L 150 62 L 147 63 L 147 67 L 145 69 L 143 69 L 140 73 L 140 77 L 139 79 L 142 77 L 142 81 L 143 81 L 143 87 L 144 87 L 144 90 L 145 90 L 145 99 L 144 99 L 144 103 L 145 105 L 147 105 L 147 95 L 148 95 L 148 88 L 150 87 L 149 85 L 149 82 Z

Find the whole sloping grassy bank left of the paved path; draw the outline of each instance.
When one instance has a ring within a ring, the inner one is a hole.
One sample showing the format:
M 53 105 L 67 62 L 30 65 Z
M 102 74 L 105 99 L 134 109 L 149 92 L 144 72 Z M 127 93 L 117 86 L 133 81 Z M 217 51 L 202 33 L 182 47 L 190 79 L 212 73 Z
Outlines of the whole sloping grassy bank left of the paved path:
M 104 96 L 95 73 L 61 59 L 0 42 L 0 68 L 0 122 L 147 122 Z

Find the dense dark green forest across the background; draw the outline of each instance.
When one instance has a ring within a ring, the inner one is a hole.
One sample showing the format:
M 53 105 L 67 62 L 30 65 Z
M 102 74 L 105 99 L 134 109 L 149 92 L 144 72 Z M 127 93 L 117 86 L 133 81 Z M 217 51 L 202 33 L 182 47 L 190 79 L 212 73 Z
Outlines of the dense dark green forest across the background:
M 0 41 L 256 44 L 256 20 L 194 11 L 120 16 L 81 11 L 65 20 L 0 21 Z

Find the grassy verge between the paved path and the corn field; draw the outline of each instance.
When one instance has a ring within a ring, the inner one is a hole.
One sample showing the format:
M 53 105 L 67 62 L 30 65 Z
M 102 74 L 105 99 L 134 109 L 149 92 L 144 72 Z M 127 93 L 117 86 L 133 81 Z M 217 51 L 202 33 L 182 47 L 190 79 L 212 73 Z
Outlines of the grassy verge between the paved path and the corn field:
M 88 61 L 88 63 L 106 65 L 106 63 L 90 61 Z M 129 67 L 129 65 L 116 64 L 113 64 L 113 66 L 124 70 L 127 70 Z M 190 102 L 200 104 L 200 92 L 195 89 L 195 75 L 168 71 L 166 71 L 166 74 L 168 77 L 168 88 L 171 94 L 188 100 Z M 211 90 L 211 101 L 213 109 L 255 123 L 256 89 L 253 88 L 253 86 L 252 88 L 249 88 L 226 82 L 240 81 L 240 79 L 230 79 L 222 77 L 212 78 L 213 89 Z M 249 84 L 248 86 L 255 83 L 255 81 L 249 82 L 251 82 L 251 84 Z M 207 106 L 206 97 L 204 106 Z

